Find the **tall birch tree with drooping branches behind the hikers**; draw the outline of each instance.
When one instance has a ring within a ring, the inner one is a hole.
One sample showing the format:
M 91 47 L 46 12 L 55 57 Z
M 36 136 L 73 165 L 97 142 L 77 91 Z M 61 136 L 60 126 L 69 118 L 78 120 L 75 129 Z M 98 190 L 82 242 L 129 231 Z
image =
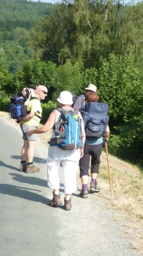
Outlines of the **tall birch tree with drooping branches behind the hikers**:
M 143 4 L 123 6 L 119 1 L 63 1 L 38 23 L 35 54 L 64 64 L 81 61 L 85 68 L 99 67 L 110 53 L 142 53 Z M 136 14 L 136 15 L 135 15 Z

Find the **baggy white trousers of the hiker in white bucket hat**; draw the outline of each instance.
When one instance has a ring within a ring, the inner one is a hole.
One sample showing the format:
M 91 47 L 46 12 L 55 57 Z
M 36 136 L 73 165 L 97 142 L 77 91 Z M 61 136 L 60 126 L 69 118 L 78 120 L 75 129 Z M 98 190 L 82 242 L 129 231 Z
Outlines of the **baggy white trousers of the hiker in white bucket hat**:
M 59 168 L 61 159 L 47 159 L 47 185 L 52 189 L 60 188 Z M 64 192 L 68 195 L 76 191 L 76 172 L 79 169 L 79 161 L 62 160 L 64 175 Z

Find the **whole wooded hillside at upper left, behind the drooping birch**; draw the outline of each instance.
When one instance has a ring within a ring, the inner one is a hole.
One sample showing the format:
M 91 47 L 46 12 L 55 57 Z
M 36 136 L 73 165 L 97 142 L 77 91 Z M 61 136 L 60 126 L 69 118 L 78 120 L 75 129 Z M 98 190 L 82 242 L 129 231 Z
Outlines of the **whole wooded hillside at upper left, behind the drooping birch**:
M 52 6 L 32 1 L 0 0 L 0 48 L 11 73 L 18 72 L 23 61 L 33 56 L 31 31 Z M 48 8 L 47 8 L 48 7 Z

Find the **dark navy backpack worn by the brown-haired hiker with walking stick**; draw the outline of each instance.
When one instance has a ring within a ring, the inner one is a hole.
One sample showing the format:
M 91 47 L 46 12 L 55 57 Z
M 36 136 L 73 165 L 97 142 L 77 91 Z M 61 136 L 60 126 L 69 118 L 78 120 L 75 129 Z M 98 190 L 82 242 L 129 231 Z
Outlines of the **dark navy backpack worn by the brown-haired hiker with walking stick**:
M 81 110 L 86 137 L 101 138 L 109 122 L 109 106 L 102 102 L 90 102 Z

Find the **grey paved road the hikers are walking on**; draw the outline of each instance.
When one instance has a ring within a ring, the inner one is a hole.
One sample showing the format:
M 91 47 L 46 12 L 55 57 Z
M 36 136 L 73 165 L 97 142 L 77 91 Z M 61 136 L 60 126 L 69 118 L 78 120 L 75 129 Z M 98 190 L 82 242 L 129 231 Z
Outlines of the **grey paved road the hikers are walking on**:
M 2 256 L 140 256 L 114 221 L 101 197 L 81 199 L 72 195 L 72 210 L 51 208 L 51 189 L 46 187 L 47 145 L 38 138 L 34 162 L 37 174 L 19 171 L 23 145 L 20 127 L 0 118 L 0 198 Z M 60 175 L 63 193 L 62 171 Z M 80 188 L 80 180 L 77 187 Z

